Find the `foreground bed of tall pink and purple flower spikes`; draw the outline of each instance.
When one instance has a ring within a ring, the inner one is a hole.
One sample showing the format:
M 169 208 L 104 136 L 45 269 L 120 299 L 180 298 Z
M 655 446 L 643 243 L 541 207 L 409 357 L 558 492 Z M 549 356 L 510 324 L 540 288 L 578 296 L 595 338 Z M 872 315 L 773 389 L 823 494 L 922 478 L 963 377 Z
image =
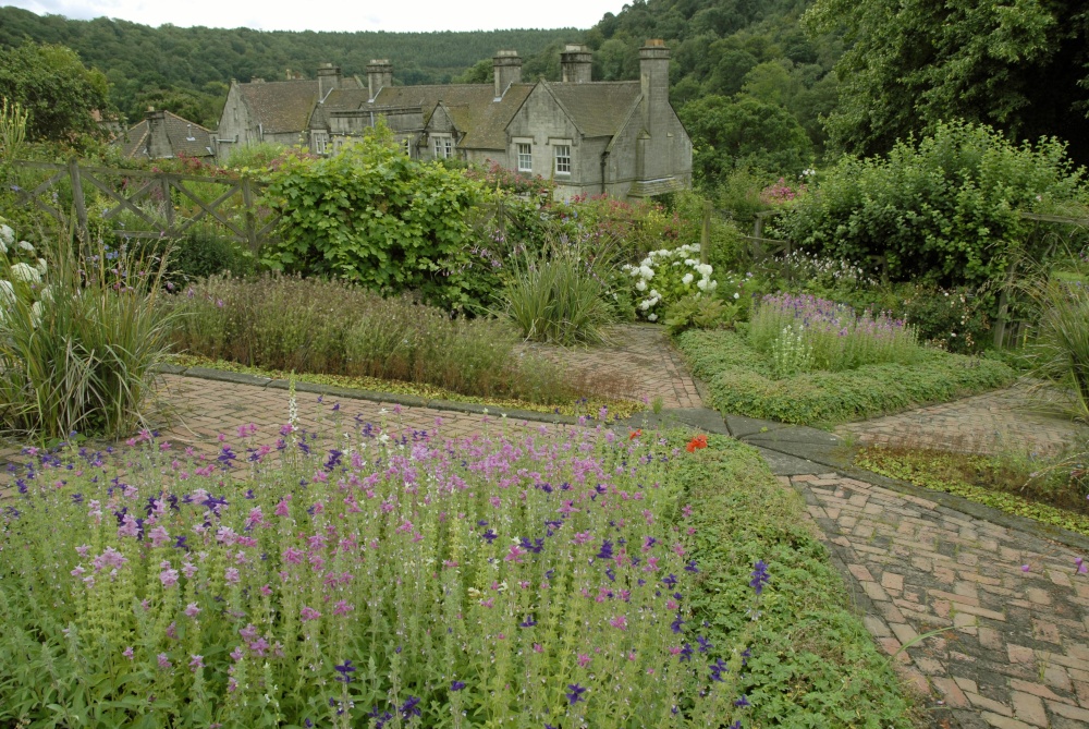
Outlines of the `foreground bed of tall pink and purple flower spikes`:
M 210 455 L 147 432 L 27 449 L 0 517 L 0 722 L 744 714 L 747 635 L 711 646 L 689 619 L 695 528 L 669 474 L 698 455 L 603 426 L 453 440 L 333 411 L 331 441 L 289 423 Z M 767 579 L 758 564 L 757 594 Z

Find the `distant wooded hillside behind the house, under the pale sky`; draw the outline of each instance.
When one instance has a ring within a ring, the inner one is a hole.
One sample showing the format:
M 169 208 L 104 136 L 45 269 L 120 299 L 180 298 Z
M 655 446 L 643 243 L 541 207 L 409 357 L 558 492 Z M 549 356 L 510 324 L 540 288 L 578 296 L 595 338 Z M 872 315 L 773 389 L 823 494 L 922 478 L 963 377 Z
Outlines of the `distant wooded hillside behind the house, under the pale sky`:
M 543 72 L 546 49 L 559 54 L 583 31 L 479 31 L 473 33 L 315 33 L 207 27 L 182 28 L 99 17 L 72 21 L 0 8 L 0 49 L 25 40 L 59 44 L 75 50 L 84 63 L 106 74 L 110 101 L 130 121 L 148 106 L 167 108 L 186 119 L 217 126 L 231 78 L 266 81 L 301 73 L 314 78 L 321 63 L 335 63 L 345 74 L 365 74 L 374 58 L 393 63 L 395 83 L 448 83 L 451 77 L 501 48 L 526 59 L 526 71 Z

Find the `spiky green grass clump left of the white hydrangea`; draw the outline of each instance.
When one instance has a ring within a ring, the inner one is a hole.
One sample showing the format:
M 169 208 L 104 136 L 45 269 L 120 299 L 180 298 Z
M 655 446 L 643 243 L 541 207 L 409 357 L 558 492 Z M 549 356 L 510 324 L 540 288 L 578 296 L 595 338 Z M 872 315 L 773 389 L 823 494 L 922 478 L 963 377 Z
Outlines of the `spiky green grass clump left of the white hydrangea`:
M 540 251 L 512 257 L 503 289 L 504 312 L 524 339 L 594 344 L 615 320 L 605 300 L 614 257 L 610 246 L 590 251 L 580 238 L 549 235 Z

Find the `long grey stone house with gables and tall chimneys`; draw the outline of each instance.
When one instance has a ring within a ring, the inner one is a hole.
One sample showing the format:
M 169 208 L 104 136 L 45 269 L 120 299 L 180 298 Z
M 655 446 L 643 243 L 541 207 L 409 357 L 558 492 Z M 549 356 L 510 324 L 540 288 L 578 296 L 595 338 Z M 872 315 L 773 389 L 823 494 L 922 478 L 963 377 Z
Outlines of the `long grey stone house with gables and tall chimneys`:
M 395 86 L 386 60 L 368 64 L 366 86 L 358 80 L 345 83 L 331 65 L 319 71 L 317 82 L 232 84 L 220 144 L 232 135 L 238 142 L 229 144 L 270 139 L 274 127 L 280 137 L 293 137 L 291 143 L 305 137 L 313 151 L 335 154 L 381 118 L 413 157 L 497 163 L 538 174 L 552 179 L 563 199 L 603 193 L 650 197 L 690 186 L 692 141 L 670 105 L 670 51 L 661 40 L 639 50 L 639 81 L 592 81 L 592 54 L 585 46 L 568 45 L 561 61 L 558 83 L 523 83 L 522 59 L 503 50 L 493 59 L 491 84 Z M 295 105 L 290 124 L 289 113 L 270 100 L 249 100 L 260 94 L 271 99 L 270 86 L 320 84 L 322 72 L 325 86 L 305 98 L 303 93 L 290 97 Z M 232 98 L 245 100 L 246 110 L 261 111 L 238 113 Z M 306 104 L 313 106 L 304 114 Z M 236 113 L 247 127 L 234 122 Z

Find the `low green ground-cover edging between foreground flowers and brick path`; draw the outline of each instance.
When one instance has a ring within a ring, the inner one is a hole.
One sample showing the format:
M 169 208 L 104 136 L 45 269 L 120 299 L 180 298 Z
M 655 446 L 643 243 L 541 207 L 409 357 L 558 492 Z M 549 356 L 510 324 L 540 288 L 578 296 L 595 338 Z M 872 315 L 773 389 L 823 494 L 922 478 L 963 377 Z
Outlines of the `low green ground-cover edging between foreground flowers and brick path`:
M 751 726 L 803 729 L 915 726 L 890 660 L 851 610 L 843 581 L 804 519 L 800 496 L 781 485 L 757 451 L 711 436 L 678 459 L 675 477 L 698 503 L 692 517 L 700 591 L 693 624 L 714 645 L 752 630 L 738 685 Z M 771 578 L 754 623 L 748 586 L 757 560 Z M 749 726 L 749 722 L 746 722 Z

